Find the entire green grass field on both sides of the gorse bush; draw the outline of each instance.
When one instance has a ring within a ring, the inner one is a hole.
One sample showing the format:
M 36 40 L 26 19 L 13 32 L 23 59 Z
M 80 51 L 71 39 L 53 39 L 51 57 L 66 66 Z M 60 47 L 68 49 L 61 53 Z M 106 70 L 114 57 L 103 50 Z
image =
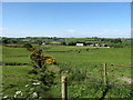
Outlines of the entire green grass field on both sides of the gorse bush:
M 117 78 L 131 78 L 131 49 L 130 48 L 91 48 L 69 46 L 41 46 L 43 53 L 55 58 L 58 66 L 50 66 L 57 74 L 59 83 L 53 86 L 51 93 L 54 98 L 61 97 L 60 76 L 68 76 L 69 98 L 101 98 L 104 87 L 102 82 L 103 63 L 108 63 L 108 80 L 117 84 L 127 83 Z M 88 50 L 86 50 L 88 49 Z M 61 52 L 59 52 L 61 51 Z M 69 51 L 69 52 L 62 52 Z M 80 53 L 79 53 L 80 51 Z M 30 63 L 30 52 L 24 48 L 2 47 L 2 63 Z M 113 64 L 113 67 L 111 66 Z M 28 66 L 3 66 L 3 93 L 13 94 L 17 90 L 24 90 L 28 79 Z M 113 70 L 113 71 L 112 71 Z M 61 72 L 60 72 L 61 71 Z M 86 74 L 89 76 L 86 78 Z M 112 77 L 113 76 L 113 77 Z M 85 82 L 85 83 L 80 83 Z M 75 82 L 75 83 L 74 83 Z M 130 97 L 130 87 L 112 86 L 105 98 Z M 57 92 L 58 91 L 58 92 Z M 12 93 L 11 93 L 12 92 Z

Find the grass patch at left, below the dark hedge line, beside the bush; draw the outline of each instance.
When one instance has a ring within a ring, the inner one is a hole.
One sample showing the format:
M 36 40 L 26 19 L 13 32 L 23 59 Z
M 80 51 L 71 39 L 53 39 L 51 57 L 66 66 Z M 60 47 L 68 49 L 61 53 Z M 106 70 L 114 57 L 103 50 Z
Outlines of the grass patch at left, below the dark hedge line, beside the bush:
M 16 91 L 24 90 L 28 83 L 28 71 L 31 69 L 28 66 L 3 66 L 2 68 L 2 82 L 3 94 L 13 96 Z

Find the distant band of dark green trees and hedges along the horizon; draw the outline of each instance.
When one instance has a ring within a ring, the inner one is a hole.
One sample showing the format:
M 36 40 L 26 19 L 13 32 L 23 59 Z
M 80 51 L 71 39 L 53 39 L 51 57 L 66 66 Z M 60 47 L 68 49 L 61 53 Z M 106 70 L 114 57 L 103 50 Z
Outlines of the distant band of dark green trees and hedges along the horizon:
M 0 40 L 0 43 L 3 44 L 22 44 L 22 43 L 34 43 L 34 44 L 41 44 L 42 42 L 60 42 L 63 46 L 75 46 L 76 42 L 83 42 L 83 43 L 99 43 L 99 44 L 108 44 L 111 47 L 115 47 L 115 44 L 120 44 L 121 47 L 130 47 L 131 46 L 131 39 L 109 39 L 109 38 L 49 38 L 49 37 L 27 37 L 27 38 L 2 38 Z M 116 46 L 117 47 L 117 46 Z M 119 47 L 120 48 L 120 47 Z

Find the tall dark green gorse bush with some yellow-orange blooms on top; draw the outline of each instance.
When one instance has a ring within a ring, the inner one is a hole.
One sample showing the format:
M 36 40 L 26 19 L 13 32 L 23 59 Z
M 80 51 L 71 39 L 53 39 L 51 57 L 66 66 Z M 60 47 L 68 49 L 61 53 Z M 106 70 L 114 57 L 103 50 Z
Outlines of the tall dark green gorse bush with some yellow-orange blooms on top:
M 50 87 L 54 84 L 54 72 L 50 71 L 47 68 L 47 64 L 53 64 L 55 60 L 52 62 L 47 61 L 50 58 L 47 58 L 47 56 L 42 56 L 42 50 L 33 50 L 31 56 L 32 60 L 32 67 L 33 69 L 29 72 L 30 77 L 30 90 L 32 90 L 32 93 L 29 94 L 29 97 L 32 98 L 45 98 L 48 92 L 50 91 Z M 32 84 L 37 84 L 35 87 Z

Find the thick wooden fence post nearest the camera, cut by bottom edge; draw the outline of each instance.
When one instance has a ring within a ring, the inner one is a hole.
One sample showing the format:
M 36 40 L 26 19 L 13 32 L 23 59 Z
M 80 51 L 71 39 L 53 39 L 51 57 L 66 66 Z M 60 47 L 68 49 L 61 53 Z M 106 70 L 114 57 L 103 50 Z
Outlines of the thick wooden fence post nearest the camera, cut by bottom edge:
M 66 77 L 62 77 L 62 100 L 66 100 Z

